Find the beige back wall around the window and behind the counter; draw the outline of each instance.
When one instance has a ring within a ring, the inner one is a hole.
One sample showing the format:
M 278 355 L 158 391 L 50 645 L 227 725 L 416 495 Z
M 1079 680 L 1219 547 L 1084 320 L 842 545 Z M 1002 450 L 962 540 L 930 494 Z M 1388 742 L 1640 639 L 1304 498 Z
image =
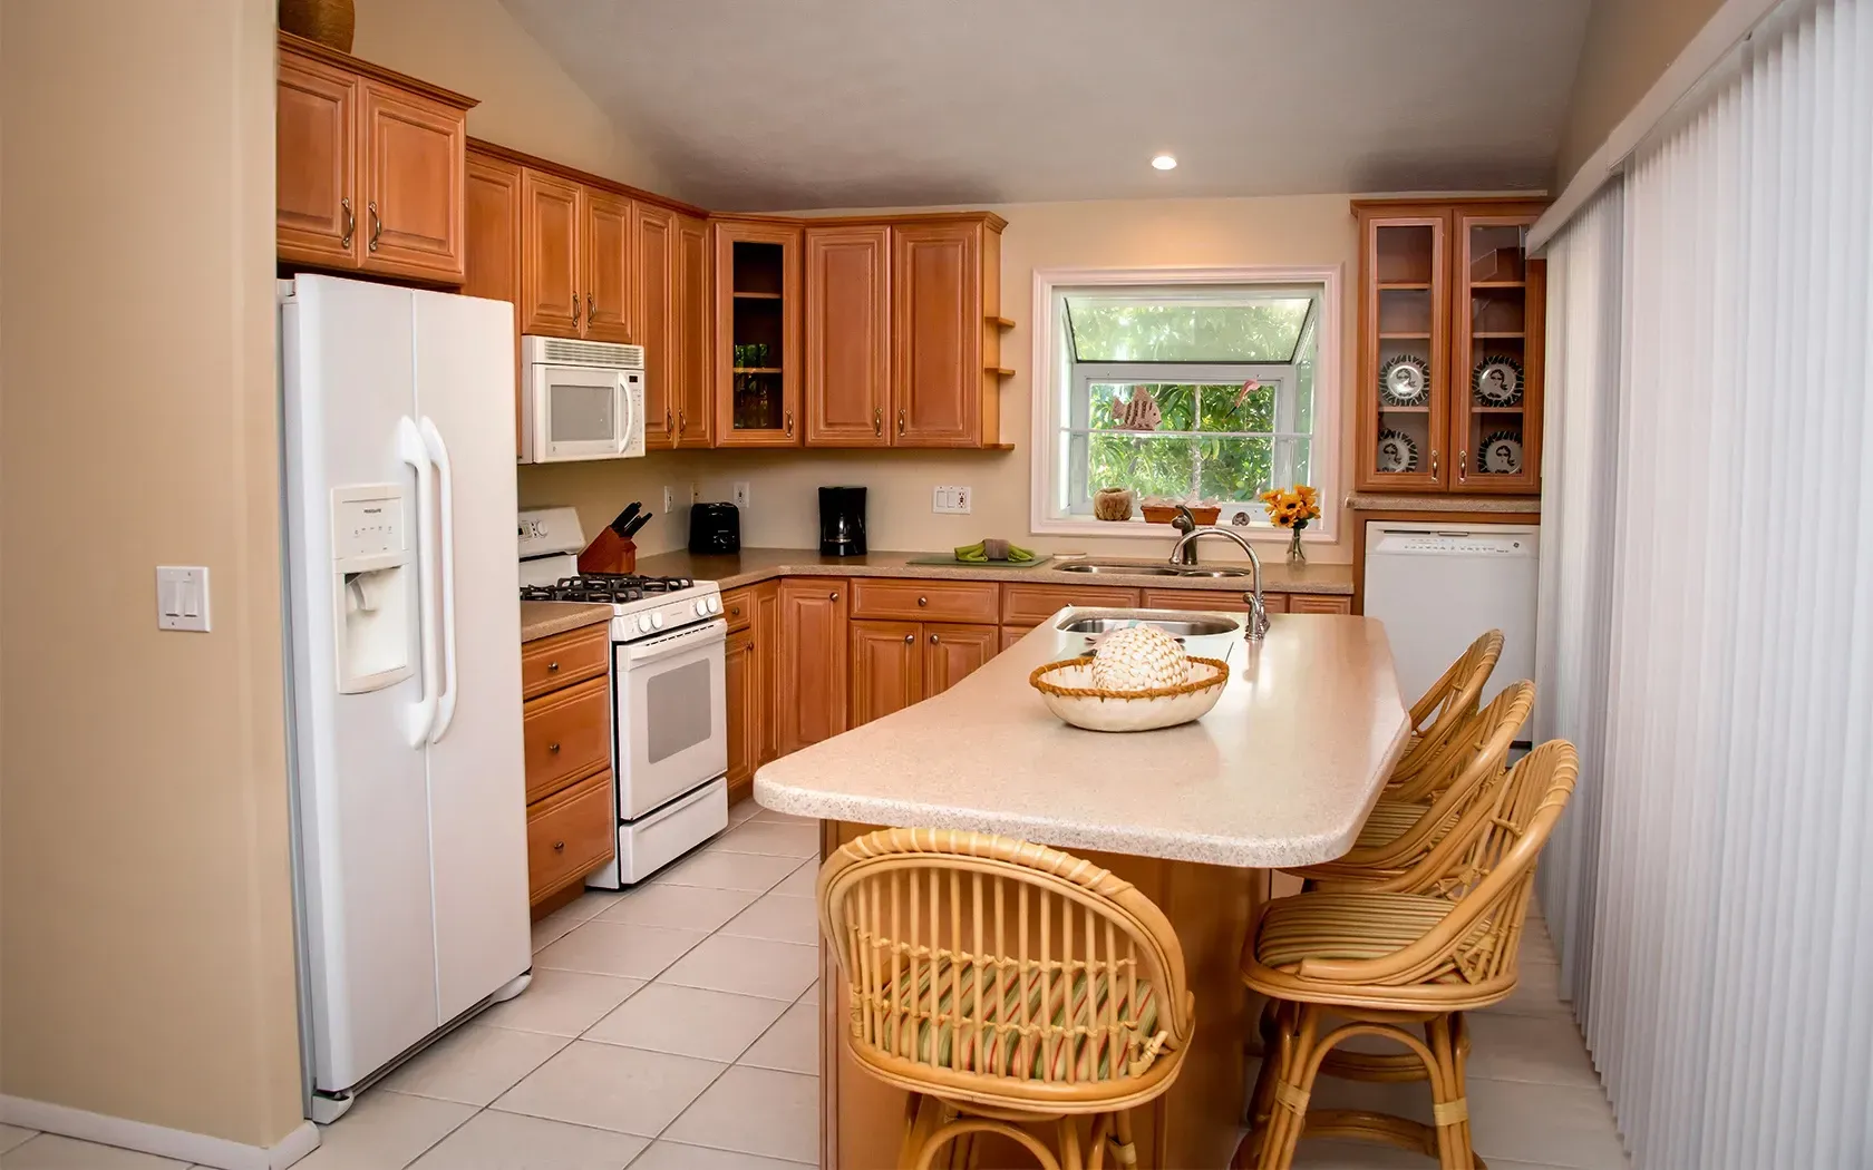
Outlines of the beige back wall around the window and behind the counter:
M 1019 324 L 1006 333 L 1002 363 L 1017 373 L 1002 388 L 1004 438 L 1013 451 L 699 451 L 652 455 L 629 462 L 524 468 L 523 504 L 573 504 L 586 532 L 596 532 L 618 507 L 641 498 L 661 509 L 661 487 L 678 487 L 687 502 L 689 483 L 704 500 L 727 500 L 732 483 L 745 479 L 751 507 L 742 517 L 745 545 L 813 547 L 819 543 L 819 500 L 824 483 L 869 487 L 869 537 L 873 548 L 942 550 L 983 535 L 1030 535 L 1030 442 L 1034 367 L 1034 270 L 1036 268 L 1144 268 L 1289 264 L 1341 268 L 1341 399 L 1350 386 L 1354 301 L 1358 277 L 1358 230 L 1345 195 L 1290 198 L 1202 200 L 1105 200 L 1058 204 L 1006 204 L 991 208 L 1008 219 L 1002 234 L 1002 313 Z M 1328 388 L 1322 386 L 1322 391 Z M 1341 429 L 1350 404 L 1341 408 Z M 1349 487 L 1350 442 L 1341 444 L 1339 494 Z M 931 489 L 938 483 L 972 487 L 974 511 L 966 517 L 933 515 Z M 1337 500 L 1334 502 L 1337 504 Z M 678 509 L 680 511 L 680 509 Z M 682 547 L 682 517 L 656 520 L 639 537 L 646 550 Z M 1150 556 L 1169 541 L 1083 539 L 1034 535 L 1047 550 Z M 1279 545 L 1279 541 L 1277 541 Z M 1206 558 L 1227 560 L 1223 548 Z M 1347 562 L 1350 545 L 1309 547 L 1309 560 Z

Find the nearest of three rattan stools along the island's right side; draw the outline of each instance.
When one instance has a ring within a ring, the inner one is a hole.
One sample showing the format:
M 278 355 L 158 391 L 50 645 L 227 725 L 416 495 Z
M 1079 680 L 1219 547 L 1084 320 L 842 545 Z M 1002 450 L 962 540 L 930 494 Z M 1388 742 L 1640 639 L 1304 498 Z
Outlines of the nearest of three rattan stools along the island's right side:
M 1262 908 L 1242 955 L 1242 979 L 1277 1000 L 1274 1045 L 1251 1099 L 1242 1170 L 1287 1170 L 1307 1136 L 1386 1142 L 1480 1166 L 1465 1097 L 1463 1013 L 1515 990 L 1534 863 L 1573 792 L 1573 745 L 1553 739 L 1515 764 L 1483 831 L 1461 859 L 1414 869 L 1397 891 L 1309 891 Z M 1324 1028 L 1326 1016 L 1349 1020 Z M 1423 1024 L 1423 1039 L 1407 1026 Z M 1382 1035 L 1405 1045 L 1431 1082 L 1433 1125 L 1356 1110 L 1307 1112 L 1322 1061 L 1343 1041 Z

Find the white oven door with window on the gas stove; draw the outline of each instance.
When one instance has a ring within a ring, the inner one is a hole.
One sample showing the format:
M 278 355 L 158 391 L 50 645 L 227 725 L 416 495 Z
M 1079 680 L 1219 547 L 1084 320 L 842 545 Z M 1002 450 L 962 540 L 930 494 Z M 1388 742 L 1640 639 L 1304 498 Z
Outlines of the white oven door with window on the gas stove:
M 618 816 L 644 812 L 729 771 L 723 644 L 729 623 L 612 646 Z

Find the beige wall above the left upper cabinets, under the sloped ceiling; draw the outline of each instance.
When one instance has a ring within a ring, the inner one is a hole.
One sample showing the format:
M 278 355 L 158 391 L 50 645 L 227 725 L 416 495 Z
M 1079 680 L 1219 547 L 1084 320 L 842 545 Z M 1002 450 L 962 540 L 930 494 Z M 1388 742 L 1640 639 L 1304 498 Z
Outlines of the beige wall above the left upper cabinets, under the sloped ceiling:
M 478 139 L 682 195 L 500 0 L 360 0 L 352 52 L 478 97 Z

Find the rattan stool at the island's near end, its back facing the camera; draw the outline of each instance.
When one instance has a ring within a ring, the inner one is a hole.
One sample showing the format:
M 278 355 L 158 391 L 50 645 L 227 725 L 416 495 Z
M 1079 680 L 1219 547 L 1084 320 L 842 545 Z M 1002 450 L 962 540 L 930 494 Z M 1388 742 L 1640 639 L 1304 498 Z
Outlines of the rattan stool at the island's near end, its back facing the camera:
M 1193 998 L 1169 919 L 1129 882 L 1025 841 L 880 829 L 826 859 L 819 906 L 847 1046 L 910 1091 L 899 1166 L 980 1133 L 1047 1170 L 1137 1163 L 1128 1110 L 1176 1078 Z

